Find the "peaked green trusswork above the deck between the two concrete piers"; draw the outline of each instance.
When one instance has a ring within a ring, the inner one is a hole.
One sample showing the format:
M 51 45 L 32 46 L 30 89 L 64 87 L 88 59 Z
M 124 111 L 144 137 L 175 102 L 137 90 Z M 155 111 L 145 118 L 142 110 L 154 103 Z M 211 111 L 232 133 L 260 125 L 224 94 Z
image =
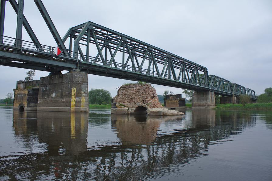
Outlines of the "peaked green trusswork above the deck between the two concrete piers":
M 90 52 L 97 52 L 93 63 L 98 63 L 99 60 L 103 65 L 110 66 L 113 63 L 114 67 L 117 67 L 116 63 L 122 63 L 122 69 L 131 66 L 132 71 L 152 76 L 199 85 L 206 85 L 208 82 L 207 78 L 200 78 L 200 74 L 207 77 L 206 67 L 93 22 L 70 28 L 62 40 L 65 42 L 70 36 L 75 37 L 74 52 L 79 52 L 79 45 L 87 46 L 92 43 L 96 46 L 96 50 L 88 49 Z M 110 56 L 107 56 L 107 52 L 110 53 Z M 117 52 L 122 52 L 122 59 L 116 59 Z

